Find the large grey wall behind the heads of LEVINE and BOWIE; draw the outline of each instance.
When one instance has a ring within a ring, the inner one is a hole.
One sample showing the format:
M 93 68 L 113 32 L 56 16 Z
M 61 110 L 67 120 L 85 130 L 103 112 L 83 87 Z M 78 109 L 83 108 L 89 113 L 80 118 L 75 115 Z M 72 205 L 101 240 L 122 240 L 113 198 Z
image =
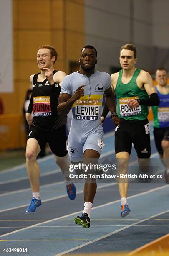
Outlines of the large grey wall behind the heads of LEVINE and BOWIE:
M 118 67 L 119 49 L 132 38 L 138 50 L 136 67 L 149 71 L 160 63 L 169 67 L 169 0 L 85 0 L 85 4 L 86 44 L 98 50 L 98 70 Z

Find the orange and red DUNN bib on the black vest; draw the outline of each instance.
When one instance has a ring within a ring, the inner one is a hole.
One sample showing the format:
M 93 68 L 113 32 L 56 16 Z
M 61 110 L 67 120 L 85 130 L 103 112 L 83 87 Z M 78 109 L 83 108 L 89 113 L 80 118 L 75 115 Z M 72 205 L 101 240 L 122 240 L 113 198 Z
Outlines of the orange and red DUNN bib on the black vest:
M 33 97 L 33 117 L 51 116 L 49 96 Z

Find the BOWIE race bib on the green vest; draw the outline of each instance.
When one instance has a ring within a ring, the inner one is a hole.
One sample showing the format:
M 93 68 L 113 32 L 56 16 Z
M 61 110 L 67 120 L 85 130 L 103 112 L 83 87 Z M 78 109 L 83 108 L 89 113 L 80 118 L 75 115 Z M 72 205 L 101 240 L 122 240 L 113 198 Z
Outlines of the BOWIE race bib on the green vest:
M 139 105 L 138 107 L 135 108 L 130 108 L 127 103 L 131 99 L 139 99 L 138 96 L 134 97 L 126 97 L 126 98 L 121 98 L 119 99 L 119 108 L 120 108 L 120 116 L 132 116 L 132 115 L 141 115 L 141 106 Z

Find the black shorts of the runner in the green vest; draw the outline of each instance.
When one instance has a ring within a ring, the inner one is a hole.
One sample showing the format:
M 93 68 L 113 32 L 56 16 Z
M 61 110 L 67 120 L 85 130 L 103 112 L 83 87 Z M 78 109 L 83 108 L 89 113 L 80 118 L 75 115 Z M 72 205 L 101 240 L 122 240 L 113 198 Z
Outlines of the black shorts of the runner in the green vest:
M 151 155 L 149 121 L 122 120 L 115 129 L 115 152 L 131 154 L 132 143 L 138 158 L 149 158 Z

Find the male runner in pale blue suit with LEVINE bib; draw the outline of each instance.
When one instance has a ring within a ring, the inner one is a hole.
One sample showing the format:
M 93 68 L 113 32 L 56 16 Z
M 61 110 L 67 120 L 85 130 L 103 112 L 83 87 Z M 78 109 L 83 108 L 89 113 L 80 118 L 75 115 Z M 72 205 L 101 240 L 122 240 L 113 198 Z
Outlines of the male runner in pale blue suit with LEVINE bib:
M 95 164 L 98 162 L 103 147 L 103 128 L 100 118 L 104 93 L 113 120 L 117 125 L 119 124 L 119 118 L 114 115 L 115 102 L 111 90 L 111 77 L 108 73 L 95 71 L 96 58 L 97 51 L 93 46 L 83 47 L 79 59 L 80 70 L 63 79 L 58 100 L 59 115 L 67 114 L 72 108 L 73 117 L 68 136 L 68 153 L 72 163 L 84 159 L 84 164 L 89 164 L 91 163 L 89 158 L 93 159 Z M 81 217 L 75 217 L 76 224 L 84 228 L 90 227 L 91 207 L 96 188 L 96 179 L 86 177 L 84 211 Z

